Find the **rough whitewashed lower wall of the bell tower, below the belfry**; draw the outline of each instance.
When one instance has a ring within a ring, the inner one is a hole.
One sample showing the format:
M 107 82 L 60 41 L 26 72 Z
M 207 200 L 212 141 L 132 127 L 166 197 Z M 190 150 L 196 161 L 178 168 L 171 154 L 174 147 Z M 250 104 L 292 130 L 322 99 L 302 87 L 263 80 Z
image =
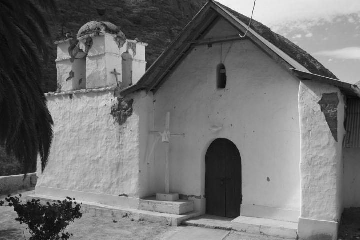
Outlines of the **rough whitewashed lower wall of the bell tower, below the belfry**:
M 36 194 L 136 208 L 142 98 L 132 98 L 130 113 L 130 99 L 118 103 L 114 91 L 48 96 L 54 139 Z

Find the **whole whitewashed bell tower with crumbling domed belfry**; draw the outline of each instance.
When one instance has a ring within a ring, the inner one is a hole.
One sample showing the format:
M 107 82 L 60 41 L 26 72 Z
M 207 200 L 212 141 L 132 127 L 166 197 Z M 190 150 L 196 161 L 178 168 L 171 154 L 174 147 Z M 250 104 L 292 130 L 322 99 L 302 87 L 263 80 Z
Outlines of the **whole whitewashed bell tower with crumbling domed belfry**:
M 38 165 L 36 194 L 137 208 L 152 96 L 138 92 L 123 99 L 117 90 L 119 83 L 132 84 L 144 73 L 146 43 L 126 40 L 118 27 L 100 21 L 82 26 L 77 39 L 58 42 L 59 89 L 47 94 L 54 138 L 43 173 Z M 142 66 L 137 75 L 122 67 L 124 53 L 127 66 Z M 78 69 L 80 60 L 85 65 Z M 84 72 L 83 85 L 77 84 L 77 70 Z

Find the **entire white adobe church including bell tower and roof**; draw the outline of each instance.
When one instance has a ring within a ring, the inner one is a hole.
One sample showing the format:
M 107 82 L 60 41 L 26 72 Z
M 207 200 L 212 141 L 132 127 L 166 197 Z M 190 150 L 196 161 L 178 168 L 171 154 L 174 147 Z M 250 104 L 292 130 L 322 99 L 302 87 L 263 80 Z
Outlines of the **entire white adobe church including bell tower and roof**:
M 147 44 L 109 22 L 56 42 L 35 194 L 337 239 L 360 207 L 360 91 L 258 22 L 240 37 L 245 18 L 209 0 L 147 70 Z

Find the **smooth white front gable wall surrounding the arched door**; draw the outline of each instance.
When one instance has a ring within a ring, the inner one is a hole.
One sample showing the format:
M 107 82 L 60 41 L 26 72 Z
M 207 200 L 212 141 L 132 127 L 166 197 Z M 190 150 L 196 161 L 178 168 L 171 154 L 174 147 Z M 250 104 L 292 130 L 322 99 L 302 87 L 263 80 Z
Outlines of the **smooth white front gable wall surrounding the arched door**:
M 222 49 L 222 54 L 221 54 Z M 222 56 L 225 89 L 216 89 Z M 205 211 L 205 153 L 216 138 L 235 143 L 242 162 L 242 215 L 297 221 L 300 210 L 299 81 L 249 40 L 196 46 L 155 94 L 155 130 L 184 133 L 170 143 L 170 191 Z M 161 142 L 151 179 L 164 191 Z M 262 214 L 262 215 L 261 215 Z M 265 214 L 265 215 L 264 215 Z

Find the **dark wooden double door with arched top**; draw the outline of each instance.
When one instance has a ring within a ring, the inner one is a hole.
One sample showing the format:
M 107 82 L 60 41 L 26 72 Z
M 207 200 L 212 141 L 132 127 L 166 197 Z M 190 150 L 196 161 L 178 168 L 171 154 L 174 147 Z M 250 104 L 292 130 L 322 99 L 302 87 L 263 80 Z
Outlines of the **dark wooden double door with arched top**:
M 206 214 L 235 218 L 240 215 L 241 156 L 236 145 L 215 139 L 205 155 Z

